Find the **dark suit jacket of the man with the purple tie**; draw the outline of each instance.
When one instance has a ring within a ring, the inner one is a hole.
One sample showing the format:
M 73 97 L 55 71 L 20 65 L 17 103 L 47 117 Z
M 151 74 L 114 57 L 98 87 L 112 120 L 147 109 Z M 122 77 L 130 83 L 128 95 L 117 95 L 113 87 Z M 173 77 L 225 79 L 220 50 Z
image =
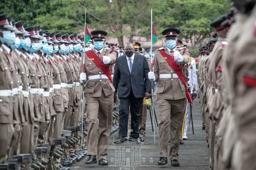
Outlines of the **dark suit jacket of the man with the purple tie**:
M 134 56 L 132 70 L 130 72 L 126 55 L 117 58 L 115 64 L 113 84 L 118 97 L 127 97 L 132 89 L 136 98 L 145 97 L 145 92 L 151 92 L 151 81 L 147 73 L 150 71 L 145 56 L 136 54 Z

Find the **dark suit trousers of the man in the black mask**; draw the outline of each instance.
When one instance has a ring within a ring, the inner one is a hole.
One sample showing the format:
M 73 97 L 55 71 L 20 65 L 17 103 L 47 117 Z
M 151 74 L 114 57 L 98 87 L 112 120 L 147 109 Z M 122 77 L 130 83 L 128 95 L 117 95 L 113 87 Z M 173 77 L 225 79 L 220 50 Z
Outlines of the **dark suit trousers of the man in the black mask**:
M 128 114 L 129 107 L 131 112 L 131 137 L 136 138 L 139 137 L 139 122 L 140 122 L 140 107 L 142 105 L 143 98 L 136 98 L 133 95 L 132 89 L 130 94 L 125 97 L 119 97 L 120 100 L 120 109 L 119 109 L 119 133 L 118 136 L 127 136 L 128 130 Z

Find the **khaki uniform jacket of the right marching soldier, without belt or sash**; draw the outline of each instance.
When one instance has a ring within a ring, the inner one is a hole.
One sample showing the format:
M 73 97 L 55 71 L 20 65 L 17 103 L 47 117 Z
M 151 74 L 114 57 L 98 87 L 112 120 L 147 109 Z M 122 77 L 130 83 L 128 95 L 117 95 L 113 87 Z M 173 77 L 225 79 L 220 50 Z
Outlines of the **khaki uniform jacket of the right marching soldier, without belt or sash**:
M 165 50 L 166 50 L 165 52 L 169 54 L 168 49 L 165 48 Z M 175 50 L 179 51 L 184 58 L 183 63 L 177 62 L 174 59 L 174 61 L 177 64 L 179 65 L 183 64 L 183 67 L 181 69 L 182 69 L 182 72 L 184 72 L 185 64 L 187 63 L 190 64 L 189 52 L 188 50 L 186 50 L 185 53 L 183 54 L 184 49 L 179 50 L 178 48 L 176 48 Z M 159 79 L 159 74 L 175 73 L 174 70 L 169 66 L 167 61 L 162 57 L 163 56 L 161 55 L 161 53 L 159 51 L 156 51 L 153 59 L 155 61 L 155 64 L 154 64 L 154 73 L 156 77 L 155 81 L 158 81 L 157 88 L 156 88 L 157 100 L 158 99 L 179 100 L 179 99 L 186 98 L 185 87 L 179 78 L 173 79 L 173 80 Z

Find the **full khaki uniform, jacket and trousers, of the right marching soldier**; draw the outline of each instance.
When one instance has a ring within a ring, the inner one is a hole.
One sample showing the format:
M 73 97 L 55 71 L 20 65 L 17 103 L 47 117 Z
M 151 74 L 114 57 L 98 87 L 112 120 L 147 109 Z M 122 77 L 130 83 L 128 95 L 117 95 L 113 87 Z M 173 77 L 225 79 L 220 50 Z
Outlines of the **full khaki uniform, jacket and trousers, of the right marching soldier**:
M 175 49 L 183 55 L 184 62 L 182 64 L 190 63 L 190 55 L 188 51 Z M 169 54 L 167 48 L 165 52 Z M 169 54 L 170 55 L 170 54 Z M 183 120 L 183 114 L 186 102 L 185 87 L 179 78 L 171 79 L 159 79 L 160 74 L 175 73 L 169 66 L 165 59 L 162 59 L 162 55 L 159 51 L 154 55 L 154 73 L 157 83 L 156 88 L 156 100 L 158 104 L 160 123 L 159 123 L 159 157 L 167 157 L 168 152 L 168 137 L 171 130 L 171 143 L 170 143 L 170 159 L 179 159 L 179 147 L 180 147 L 180 128 Z M 181 63 L 175 61 L 177 64 Z M 182 71 L 185 67 L 183 65 Z M 171 127 L 171 128 L 170 128 Z

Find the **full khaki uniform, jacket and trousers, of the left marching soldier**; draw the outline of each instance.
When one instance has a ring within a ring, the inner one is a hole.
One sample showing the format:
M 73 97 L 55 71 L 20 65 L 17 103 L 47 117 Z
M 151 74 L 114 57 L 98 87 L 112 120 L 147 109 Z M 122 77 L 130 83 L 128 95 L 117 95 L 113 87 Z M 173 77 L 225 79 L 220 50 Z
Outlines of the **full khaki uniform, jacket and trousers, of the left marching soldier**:
M 107 55 L 111 58 L 113 64 L 116 61 L 117 50 L 114 49 L 106 50 L 103 47 L 103 51 L 100 54 L 102 60 L 103 55 Z M 95 52 L 95 50 L 94 50 Z M 95 52 L 97 55 L 97 53 Z M 94 62 L 84 53 L 85 56 L 85 72 L 87 77 L 91 75 L 104 74 Z M 111 68 L 110 68 L 111 69 Z M 80 66 L 80 72 L 83 71 L 83 63 Z M 88 78 L 87 78 L 88 80 Z M 112 126 L 112 110 L 113 110 L 113 99 L 114 99 L 115 88 L 109 79 L 95 79 L 89 80 L 85 86 L 85 100 L 88 109 L 88 134 L 87 134 L 87 155 L 98 155 L 98 159 L 106 159 L 107 149 L 106 146 L 109 142 L 109 136 Z M 97 117 L 99 113 L 99 119 Z M 99 126 L 99 132 L 98 132 Z M 98 144 L 97 132 L 99 133 Z M 98 148 L 96 147 L 98 146 Z M 97 148 L 97 149 L 96 149 Z

